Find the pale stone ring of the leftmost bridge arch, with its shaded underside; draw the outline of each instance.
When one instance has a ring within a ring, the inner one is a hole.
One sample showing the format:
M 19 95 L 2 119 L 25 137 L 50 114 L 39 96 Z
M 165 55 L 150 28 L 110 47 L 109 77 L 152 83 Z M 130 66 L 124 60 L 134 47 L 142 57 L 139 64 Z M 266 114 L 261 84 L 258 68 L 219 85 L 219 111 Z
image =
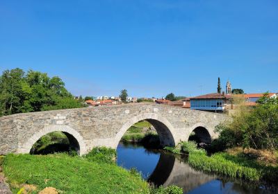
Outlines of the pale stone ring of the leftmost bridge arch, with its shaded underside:
M 17 152 L 29 153 L 35 142 L 37 142 L 42 136 L 57 131 L 64 132 L 70 141 L 75 141 L 75 143 L 78 144 L 79 155 L 84 155 L 86 153 L 86 147 L 85 142 L 83 141 L 83 137 L 79 134 L 79 132 L 76 132 L 76 130 L 67 125 L 49 125 L 47 127 L 44 127 L 44 129 L 40 130 L 40 132 L 36 132 L 35 134 L 33 134 L 33 136 L 31 136 L 31 138 L 28 139 L 28 141 L 26 141 L 22 148 L 18 149 Z

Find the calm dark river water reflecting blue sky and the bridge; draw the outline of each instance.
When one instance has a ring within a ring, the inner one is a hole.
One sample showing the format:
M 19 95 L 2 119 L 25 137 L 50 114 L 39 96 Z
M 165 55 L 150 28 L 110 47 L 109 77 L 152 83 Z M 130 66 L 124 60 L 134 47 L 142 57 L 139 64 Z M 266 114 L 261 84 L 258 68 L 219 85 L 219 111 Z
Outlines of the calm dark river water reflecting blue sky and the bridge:
M 172 184 L 183 188 L 183 193 L 278 193 L 263 184 L 251 184 L 242 179 L 229 179 L 202 173 L 191 168 L 186 158 L 181 159 L 159 150 L 147 150 L 141 145 L 120 143 L 117 147 L 117 164 L 123 168 L 136 168 L 142 177 L 156 186 Z

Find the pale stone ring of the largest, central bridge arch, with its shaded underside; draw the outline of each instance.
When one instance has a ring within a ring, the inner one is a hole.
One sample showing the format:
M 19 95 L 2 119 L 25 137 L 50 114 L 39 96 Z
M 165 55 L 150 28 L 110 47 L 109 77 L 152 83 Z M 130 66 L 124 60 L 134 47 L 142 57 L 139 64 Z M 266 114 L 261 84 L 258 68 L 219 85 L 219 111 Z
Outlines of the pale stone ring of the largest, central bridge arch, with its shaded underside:
M 167 121 L 166 118 L 163 118 L 163 116 L 155 113 L 145 113 L 134 116 L 129 121 L 124 123 L 124 125 L 122 125 L 120 131 L 115 136 L 114 148 L 117 148 L 117 145 L 120 143 L 120 140 L 122 139 L 122 136 L 124 136 L 124 133 L 129 130 L 132 125 L 142 120 L 146 120 L 154 126 L 156 132 L 158 133 L 161 145 L 177 145 L 177 142 L 174 139 L 174 127 L 172 126 L 172 124 Z

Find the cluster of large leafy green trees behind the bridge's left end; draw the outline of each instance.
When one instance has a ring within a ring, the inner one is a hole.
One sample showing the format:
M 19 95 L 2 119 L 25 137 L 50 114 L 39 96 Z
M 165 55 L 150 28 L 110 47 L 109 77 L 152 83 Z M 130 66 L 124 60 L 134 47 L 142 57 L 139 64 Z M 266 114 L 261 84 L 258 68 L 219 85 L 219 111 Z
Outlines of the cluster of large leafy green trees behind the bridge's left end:
M 65 83 L 47 73 L 22 69 L 3 71 L 0 76 L 0 116 L 21 112 L 83 107 L 65 89 Z

